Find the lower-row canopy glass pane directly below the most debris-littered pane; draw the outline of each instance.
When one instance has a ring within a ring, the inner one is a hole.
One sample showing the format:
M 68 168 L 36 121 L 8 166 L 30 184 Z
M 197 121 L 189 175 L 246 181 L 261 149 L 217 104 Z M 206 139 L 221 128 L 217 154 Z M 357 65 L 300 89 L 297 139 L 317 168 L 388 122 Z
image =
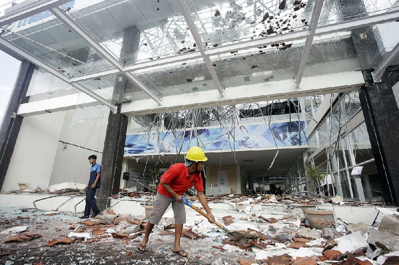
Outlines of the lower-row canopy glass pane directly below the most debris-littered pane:
M 211 56 L 224 87 L 293 79 L 298 72 L 305 40 Z M 277 46 L 276 46 L 277 45 Z

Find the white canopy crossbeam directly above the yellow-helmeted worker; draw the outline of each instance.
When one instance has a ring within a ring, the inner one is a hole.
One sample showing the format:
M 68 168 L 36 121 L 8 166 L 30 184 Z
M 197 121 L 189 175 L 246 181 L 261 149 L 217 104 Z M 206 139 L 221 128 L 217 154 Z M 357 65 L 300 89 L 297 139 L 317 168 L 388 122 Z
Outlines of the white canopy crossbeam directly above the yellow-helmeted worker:
M 212 77 L 213 82 L 215 82 L 215 85 L 216 85 L 217 90 L 219 91 L 220 97 L 224 98 L 224 88 L 223 88 L 222 84 L 220 83 L 219 78 L 216 75 L 216 71 L 212 66 L 212 62 L 210 61 L 209 56 L 205 54 L 200 33 L 198 32 L 196 26 L 194 25 L 194 20 L 190 14 L 190 11 L 186 4 L 186 1 L 180 0 L 180 1 L 178 1 L 178 3 L 180 6 L 180 10 L 182 11 L 182 14 L 184 16 L 184 19 L 186 20 L 187 26 L 189 27 L 191 34 L 193 34 L 193 38 L 197 43 L 197 47 L 202 55 L 203 60 L 205 61 L 206 68 L 208 68 L 210 76 Z

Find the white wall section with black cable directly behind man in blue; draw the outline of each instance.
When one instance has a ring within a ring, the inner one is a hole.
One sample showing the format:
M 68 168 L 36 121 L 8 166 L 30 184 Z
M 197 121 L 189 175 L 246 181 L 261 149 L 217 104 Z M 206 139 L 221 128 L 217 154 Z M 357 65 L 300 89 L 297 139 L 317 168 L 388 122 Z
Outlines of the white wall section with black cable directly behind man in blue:
M 62 182 L 88 183 L 90 164 L 87 157 L 95 154 L 97 162 L 101 164 L 108 115 L 109 109 L 104 106 L 65 112 L 50 185 Z

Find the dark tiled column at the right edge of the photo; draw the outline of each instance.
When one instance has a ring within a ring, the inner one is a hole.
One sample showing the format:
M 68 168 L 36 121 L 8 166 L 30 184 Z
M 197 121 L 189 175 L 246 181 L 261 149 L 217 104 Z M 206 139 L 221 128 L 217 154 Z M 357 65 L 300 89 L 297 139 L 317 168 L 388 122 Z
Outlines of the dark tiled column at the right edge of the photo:
M 399 206 L 399 109 L 392 87 L 399 82 L 397 67 L 387 68 L 382 81 L 374 83 L 371 71 L 363 71 L 366 84 L 360 103 L 377 171 L 387 203 Z

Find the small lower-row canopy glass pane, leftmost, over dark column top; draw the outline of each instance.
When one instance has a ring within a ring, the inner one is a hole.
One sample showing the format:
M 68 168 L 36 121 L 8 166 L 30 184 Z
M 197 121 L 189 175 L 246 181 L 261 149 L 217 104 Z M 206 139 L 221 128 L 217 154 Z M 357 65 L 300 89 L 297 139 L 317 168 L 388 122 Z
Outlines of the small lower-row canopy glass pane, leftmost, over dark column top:
M 79 82 L 79 84 L 114 104 L 150 99 L 137 84 L 131 82 L 123 74 L 99 77 Z

